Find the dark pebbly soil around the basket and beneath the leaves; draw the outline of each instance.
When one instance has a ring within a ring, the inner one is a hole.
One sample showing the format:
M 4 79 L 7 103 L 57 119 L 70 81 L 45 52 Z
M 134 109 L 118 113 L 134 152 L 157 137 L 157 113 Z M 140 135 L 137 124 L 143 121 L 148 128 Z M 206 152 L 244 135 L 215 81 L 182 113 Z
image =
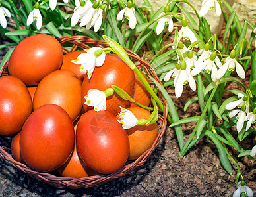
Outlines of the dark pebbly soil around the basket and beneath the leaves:
M 0 37 L 0 45 L 5 41 Z M 7 40 L 8 42 L 8 40 Z M 1 49 L 0 61 L 6 51 Z M 199 115 L 197 104 L 192 104 L 183 112 L 183 106 L 191 97 L 191 90 L 184 87 L 183 96 L 177 100 L 174 89 L 168 89 L 170 97 L 179 108 L 179 117 Z M 185 141 L 195 124 L 182 125 Z M 236 137 L 234 128 L 232 135 Z M 246 150 L 256 144 L 251 134 L 241 143 Z M 0 146 L 3 142 L 0 140 Z M 240 164 L 247 185 L 256 194 L 256 162 L 248 158 L 237 158 L 238 152 L 230 149 L 230 154 Z M 167 128 L 160 145 L 144 165 L 130 173 L 97 188 L 77 190 L 58 189 L 47 183 L 32 179 L 26 173 L 13 167 L 0 157 L 0 196 L 232 196 L 236 190 L 236 165 L 229 175 L 220 164 L 216 146 L 206 137 L 197 142 L 179 158 L 179 145 L 173 128 Z

